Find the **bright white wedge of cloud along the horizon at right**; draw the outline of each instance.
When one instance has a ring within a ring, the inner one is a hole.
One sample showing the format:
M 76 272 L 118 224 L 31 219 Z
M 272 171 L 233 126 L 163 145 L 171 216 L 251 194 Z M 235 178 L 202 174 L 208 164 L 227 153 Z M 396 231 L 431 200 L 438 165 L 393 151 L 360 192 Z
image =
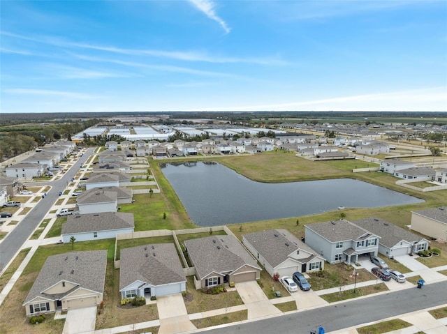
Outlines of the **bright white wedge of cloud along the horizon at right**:
M 205 107 L 210 111 L 258 111 L 258 110 L 314 110 L 314 111 L 445 111 L 447 91 L 445 87 L 374 93 L 339 98 L 324 98 L 292 103 L 244 105 L 237 107 Z M 191 110 L 200 110 L 195 108 Z

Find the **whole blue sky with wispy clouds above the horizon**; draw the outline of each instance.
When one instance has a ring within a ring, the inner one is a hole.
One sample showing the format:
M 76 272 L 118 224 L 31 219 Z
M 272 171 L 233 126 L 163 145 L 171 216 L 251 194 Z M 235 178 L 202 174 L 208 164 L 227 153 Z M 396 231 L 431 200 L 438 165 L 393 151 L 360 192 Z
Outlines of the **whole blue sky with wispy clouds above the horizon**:
M 1 1 L 1 112 L 447 111 L 447 1 Z

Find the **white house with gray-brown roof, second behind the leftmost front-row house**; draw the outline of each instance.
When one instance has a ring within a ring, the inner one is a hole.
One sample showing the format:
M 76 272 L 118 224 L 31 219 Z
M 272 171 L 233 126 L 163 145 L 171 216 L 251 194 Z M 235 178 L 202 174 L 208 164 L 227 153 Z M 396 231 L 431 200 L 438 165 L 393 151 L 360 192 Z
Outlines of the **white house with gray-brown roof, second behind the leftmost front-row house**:
M 117 192 L 93 188 L 76 197 L 79 213 L 117 212 Z

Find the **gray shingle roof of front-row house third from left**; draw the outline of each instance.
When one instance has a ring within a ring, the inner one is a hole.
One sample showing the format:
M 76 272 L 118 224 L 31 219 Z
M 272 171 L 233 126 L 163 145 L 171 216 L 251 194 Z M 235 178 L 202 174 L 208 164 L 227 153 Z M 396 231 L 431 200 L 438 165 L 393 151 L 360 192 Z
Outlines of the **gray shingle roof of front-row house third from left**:
M 186 240 L 184 245 L 200 279 L 213 271 L 235 271 L 244 264 L 259 268 L 255 259 L 234 236 L 207 236 Z

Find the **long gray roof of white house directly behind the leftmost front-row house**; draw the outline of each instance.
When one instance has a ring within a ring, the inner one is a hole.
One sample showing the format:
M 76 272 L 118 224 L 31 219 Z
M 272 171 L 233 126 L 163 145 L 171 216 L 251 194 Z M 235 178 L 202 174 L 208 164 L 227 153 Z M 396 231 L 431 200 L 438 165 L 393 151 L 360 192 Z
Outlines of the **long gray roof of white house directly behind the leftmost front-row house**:
M 135 227 L 133 213 L 101 212 L 85 215 L 68 215 L 61 234 L 108 231 Z

